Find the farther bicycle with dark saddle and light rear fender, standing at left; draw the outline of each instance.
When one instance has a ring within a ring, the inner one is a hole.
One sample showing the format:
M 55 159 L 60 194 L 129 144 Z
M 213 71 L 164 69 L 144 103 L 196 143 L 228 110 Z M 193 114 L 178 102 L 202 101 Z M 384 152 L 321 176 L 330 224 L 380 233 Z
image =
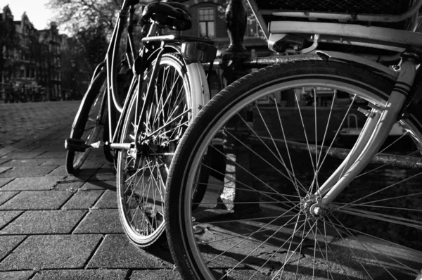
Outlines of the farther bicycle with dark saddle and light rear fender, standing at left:
M 209 99 L 201 63 L 213 61 L 217 49 L 208 39 L 158 34 L 165 27 L 191 27 L 191 17 L 183 4 L 141 2 L 144 27 L 136 56 L 133 30 L 138 3 L 123 1 L 106 58 L 94 71 L 65 146 L 70 174 L 77 173 L 91 148 L 104 148 L 117 172 L 122 227 L 130 241 L 145 247 L 164 231 L 167 170 L 191 118 Z M 117 72 L 126 21 L 125 60 Z M 99 140 L 101 128 L 103 139 Z

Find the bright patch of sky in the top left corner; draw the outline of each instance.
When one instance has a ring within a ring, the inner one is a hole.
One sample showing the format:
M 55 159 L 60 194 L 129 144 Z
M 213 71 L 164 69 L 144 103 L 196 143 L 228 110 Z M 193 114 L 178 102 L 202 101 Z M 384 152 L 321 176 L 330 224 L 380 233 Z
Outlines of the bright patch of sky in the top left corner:
M 26 11 L 30 22 L 37 30 L 43 30 L 49 27 L 52 13 L 45 4 L 48 0 L 0 0 L 1 13 L 4 6 L 11 8 L 13 19 L 20 20 L 23 12 Z

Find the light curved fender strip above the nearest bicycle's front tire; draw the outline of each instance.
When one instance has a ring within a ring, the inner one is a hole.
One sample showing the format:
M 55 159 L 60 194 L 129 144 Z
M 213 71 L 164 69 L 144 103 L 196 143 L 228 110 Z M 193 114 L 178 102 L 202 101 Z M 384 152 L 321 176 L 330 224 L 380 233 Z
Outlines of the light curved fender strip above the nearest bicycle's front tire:
M 315 53 L 321 59 L 334 58 L 338 59 L 339 61 L 344 61 L 346 63 L 357 63 L 369 68 L 374 68 L 396 78 L 399 76 L 399 72 L 396 72 L 395 70 L 392 70 L 391 68 L 388 68 L 387 66 L 384 66 L 381 63 L 377 63 L 376 61 L 371 61 L 369 58 L 365 58 L 364 56 L 355 56 L 350 53 L 341 53 L 339 51 L 315 51 Z

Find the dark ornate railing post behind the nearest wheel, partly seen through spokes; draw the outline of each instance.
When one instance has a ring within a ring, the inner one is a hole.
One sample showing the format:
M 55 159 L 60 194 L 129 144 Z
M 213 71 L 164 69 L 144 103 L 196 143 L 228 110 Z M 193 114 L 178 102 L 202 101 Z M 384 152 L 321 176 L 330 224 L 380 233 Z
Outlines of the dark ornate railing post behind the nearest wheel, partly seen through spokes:
M 248 12 L 243 0 L 231 0 L 226 8 L 226 27 L 229 34 L 230 45 L 222 56 L 223 77 L 227 84 L 248 74 L 243 61 L 250 58 L 250 52 L 243 46 L 243 36 L 246 30 Z M 241 112 L 241 117 L 246 120 L 246 112 Z M 236 138 L 242 139 L 242 131 L 248 127 L 240 117 L 233 117 L 226 125 L 228 132 Z M 254 191 L 245 191 L 252 187 L 252 176 L 250 175 L 249 151 L 242 147 L 233 137 L 224 133 L 224 153 L 226 154 L 226 167 L 224 177 L 224 188 L 219 192 L 218 202 L 224 203 L 226 209 L 234 210 L 236 213 L 258 212 L 260 210 Z M 241 202 L 248 202 L 242 204 Z M 238 204 L 236 204 L 238 203 Z M 254 207 L 255 205 L 255 207 Z

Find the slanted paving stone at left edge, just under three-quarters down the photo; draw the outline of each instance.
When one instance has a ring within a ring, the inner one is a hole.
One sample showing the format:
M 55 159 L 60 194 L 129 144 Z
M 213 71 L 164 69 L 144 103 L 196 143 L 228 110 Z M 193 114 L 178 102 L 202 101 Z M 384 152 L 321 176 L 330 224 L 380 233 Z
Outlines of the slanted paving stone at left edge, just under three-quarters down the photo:
M 59 209 L 72 196 L 69 191 L 21 191 L 0 206 L 0 210 Z

